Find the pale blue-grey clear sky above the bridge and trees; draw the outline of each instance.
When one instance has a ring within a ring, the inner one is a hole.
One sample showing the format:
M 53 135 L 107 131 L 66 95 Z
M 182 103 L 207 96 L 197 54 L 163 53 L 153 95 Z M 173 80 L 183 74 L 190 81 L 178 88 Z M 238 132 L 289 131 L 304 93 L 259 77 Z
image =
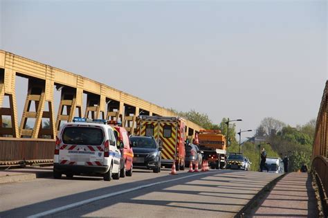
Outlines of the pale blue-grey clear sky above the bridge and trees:
M 242 130 L 318 114 L 327 1 L 0 2 L 2 50 L 156 105 L 242 118 Z M 21 110 L 26 80 L 16 87 Z

